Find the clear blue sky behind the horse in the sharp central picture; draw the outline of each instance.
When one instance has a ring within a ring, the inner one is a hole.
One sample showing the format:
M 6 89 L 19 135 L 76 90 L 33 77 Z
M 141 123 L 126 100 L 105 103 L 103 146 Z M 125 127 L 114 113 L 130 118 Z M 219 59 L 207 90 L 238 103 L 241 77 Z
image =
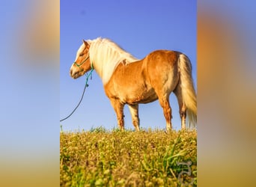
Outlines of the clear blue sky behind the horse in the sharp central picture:
M 76 107 L 85 85 L 85 76 L 72 79 L 70 66 L 82 40 L 107 37 L 136 58 L 144 58 L 156 49 L 177 50 L 188 55 L 196 87 L 196 1 L 191 0 L 61 0 L 60 119 Z M 84 99 L 75 113 L 61 122 L 64 130 L 104 126 L 118 128 L 115 111 L 93 73 Z M 180 115 L 174 93 L 170 96 L 172 123 L 180 129 Z M 134 129 L 127 106 L 126 129 Z M 165 128 L 158 100 L 139 105 L 142 128 Z

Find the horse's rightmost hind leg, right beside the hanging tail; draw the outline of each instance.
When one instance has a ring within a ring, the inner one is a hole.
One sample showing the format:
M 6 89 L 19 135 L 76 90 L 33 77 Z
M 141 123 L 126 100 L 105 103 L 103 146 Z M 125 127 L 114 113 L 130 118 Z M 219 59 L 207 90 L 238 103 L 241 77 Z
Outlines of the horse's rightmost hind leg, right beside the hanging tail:
M 180 85 L 177 85 L 177 88 L 175 88 L 174 93 L 177 96 L 180 108 L 181 129 L 186 129 L 186 105 L 183 102 Z

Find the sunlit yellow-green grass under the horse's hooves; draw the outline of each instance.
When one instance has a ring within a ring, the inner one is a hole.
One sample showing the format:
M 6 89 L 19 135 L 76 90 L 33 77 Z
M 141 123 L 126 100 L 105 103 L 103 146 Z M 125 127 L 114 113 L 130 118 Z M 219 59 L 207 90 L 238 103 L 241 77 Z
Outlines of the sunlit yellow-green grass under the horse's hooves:
M 197 186 L 195 130 L 100 127 L 61 132 L 60 141 L 61 186 Z

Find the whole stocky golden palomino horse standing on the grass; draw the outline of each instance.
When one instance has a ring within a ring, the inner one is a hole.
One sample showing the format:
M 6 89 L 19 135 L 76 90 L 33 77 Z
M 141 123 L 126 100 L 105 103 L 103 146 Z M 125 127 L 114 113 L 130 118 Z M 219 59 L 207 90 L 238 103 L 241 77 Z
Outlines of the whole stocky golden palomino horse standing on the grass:
M 197 101 L 192 65 L 181 52 L 157 50 L 138 60 L 109 39 L 83 40 L 70 68 L 70 76 L 76 79 L 93 68 L 103 81 L 120 129 L 124 129 L 125 104 L 129 105 L 133 126 L 138 131 L 138 103 L 159 99 L 166 129 L 171 130 L 171 92 L 179 103 L 181 129 L 186 128 L 186 114 L 189 124 L 195 126 Z

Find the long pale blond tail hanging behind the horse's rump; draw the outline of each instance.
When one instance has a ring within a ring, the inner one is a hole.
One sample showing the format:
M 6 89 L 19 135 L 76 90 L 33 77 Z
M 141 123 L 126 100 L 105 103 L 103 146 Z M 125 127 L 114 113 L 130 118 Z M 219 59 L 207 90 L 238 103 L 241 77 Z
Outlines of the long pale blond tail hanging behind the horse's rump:
M 192 65 L 189 58 L 184 54 L 180 54 L 179 68 L 181 94 L 187 108 L 186 115 L 189 120 L 189 126 L 195 126 L 197 123 L 197 99 L 192 80 Z

